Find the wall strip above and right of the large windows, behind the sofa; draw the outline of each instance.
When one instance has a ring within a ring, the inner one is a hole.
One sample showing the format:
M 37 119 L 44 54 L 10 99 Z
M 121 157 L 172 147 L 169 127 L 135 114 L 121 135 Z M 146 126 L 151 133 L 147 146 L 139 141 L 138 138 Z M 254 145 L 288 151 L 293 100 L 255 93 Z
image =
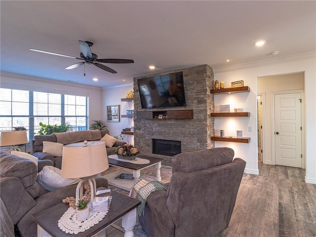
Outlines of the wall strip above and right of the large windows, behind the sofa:
M 0 87 L 17 90 L 88 96 L 88 124 L 90 125 L 92 120 L 101 119 L 103 115 L 101 87 L 6 72 L 1 72 Z

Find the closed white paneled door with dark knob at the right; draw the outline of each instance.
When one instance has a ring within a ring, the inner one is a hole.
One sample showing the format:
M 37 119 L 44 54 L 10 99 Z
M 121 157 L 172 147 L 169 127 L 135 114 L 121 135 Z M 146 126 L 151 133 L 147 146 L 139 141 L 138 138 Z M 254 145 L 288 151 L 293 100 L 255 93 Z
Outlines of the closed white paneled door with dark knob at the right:
M 275 94 L 276 164 L 302 167 L 301 93 Z

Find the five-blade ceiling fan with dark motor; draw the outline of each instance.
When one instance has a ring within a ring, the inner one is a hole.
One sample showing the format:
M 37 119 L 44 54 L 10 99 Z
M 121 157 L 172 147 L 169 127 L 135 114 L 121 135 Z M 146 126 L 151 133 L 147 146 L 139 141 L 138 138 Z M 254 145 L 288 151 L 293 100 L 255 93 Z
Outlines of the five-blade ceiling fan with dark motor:
M 94 54 L 91 52 L 90 47 L 93 45 L 92 42 L 90 41 L 82 41 L 79 40 L 79 48 L 80 48 L 80 58 L 74 57 L 74 56 L 69 56 L 65 54 L 60 54 L 60 53 L 53 53 L 53 52 L 48 52 L 48 51 L 43 51 L 39 49 L 34 49 L 30 48 L 30 50 L 41 52 L 41 53 L 48 53 L 48 54 L 53 54 L 57 56 L 62 56 L 62 57 L 68 57 L 68 58 L 75 58 L 79 60 L 83 60 L 83 62 L 75 63 L 73 65 L 68 66 L 65 69 L 74 69 L 78 68 L 79 66 L 82 66 L 84 64 L 93 64 L 97 66 L 98 68 L 101 68 L 104 71 L 107 71 L 109 73 L 117 73 L 115 70 L 112 68 L 109 68 L 108 66 L 105 66 L 100 63 L 134 63 L 134 60 L 131 59 L 119 59 L 119 58 L 103 58 L 103 59 L 98 59 L 98 55 Z

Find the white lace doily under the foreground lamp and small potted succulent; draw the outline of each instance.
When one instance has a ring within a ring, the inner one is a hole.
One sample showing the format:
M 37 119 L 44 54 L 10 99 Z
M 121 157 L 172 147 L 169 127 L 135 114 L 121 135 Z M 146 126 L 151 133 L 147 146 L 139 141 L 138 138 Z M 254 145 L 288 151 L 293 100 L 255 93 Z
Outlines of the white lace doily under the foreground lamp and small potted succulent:
M 111 201 L 112 196 L 110 203 Z M 79 232 L 84 232 L 92 226 L 98 224 L 108 214 L 108 211 L 109 209 L 107 211 L 90 213 L 88 219 L 78 221 L 76 218 L 76 209 L 70 206 L 64 215 L 58 220 L 58 227 L 68 234 L 77 235 Z

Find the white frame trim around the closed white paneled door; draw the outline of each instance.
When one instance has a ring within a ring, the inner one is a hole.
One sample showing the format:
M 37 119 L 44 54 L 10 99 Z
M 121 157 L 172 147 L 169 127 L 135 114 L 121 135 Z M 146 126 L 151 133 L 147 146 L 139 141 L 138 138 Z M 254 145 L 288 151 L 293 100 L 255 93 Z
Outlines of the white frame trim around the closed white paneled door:
M 302 126 L 302 133 L 301 133 L 301 139 L 302 139 L 302 168 L 305 169 L 305 120 L 304 120 L 304 90 L 282 90 L 282 91 L 272 91 L 271 92 L 271 115 L 272 115 L 272 121 L 271 121 L 271 128 L 272 128 L 272 133 L 271 133 L 271 148 L 272 148 L 272 162 L 274 165 L 276 165 L 276 143 L 275 143 L 275 136 L 274 136 L 274 131 L 276 130 L 275 128 L 275 95 L 278 94 L 291 94 L 291 93 L 301 93 L 301 99 L 302 99 L 302 104 L 301 104 L 301 126 Z

